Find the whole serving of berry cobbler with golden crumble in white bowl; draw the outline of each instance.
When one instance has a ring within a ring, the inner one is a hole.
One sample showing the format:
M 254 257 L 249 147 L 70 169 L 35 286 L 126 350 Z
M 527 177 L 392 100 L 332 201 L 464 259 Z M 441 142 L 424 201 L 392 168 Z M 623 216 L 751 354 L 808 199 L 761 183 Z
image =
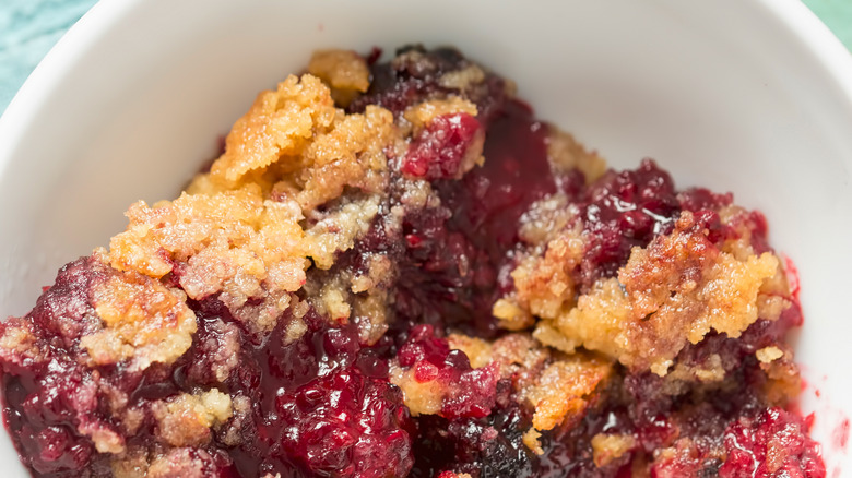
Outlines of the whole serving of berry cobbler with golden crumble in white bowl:
M 759 212 L 453 49 L 317 52 L 0 324 L 36 477 L 824 477 Z

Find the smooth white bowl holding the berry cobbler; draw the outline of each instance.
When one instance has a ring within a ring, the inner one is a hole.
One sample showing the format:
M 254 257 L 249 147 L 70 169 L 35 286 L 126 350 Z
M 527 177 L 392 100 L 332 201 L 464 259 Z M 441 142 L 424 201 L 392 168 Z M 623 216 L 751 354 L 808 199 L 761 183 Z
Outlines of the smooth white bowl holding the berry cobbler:
M 131 202 L 175 196 L 311 50 L 412 41 L 514 79 L 616 167 L 652 156 L 764 211 L 801 275 L 802 408 L 829 476 L 852 469 L 836 435 L 852 415 L 852 60 L 796 0 L 102 1 L 0 119 L 0 315 L 106 244 Z M 25 476 L 0 435 L 4 476 Z

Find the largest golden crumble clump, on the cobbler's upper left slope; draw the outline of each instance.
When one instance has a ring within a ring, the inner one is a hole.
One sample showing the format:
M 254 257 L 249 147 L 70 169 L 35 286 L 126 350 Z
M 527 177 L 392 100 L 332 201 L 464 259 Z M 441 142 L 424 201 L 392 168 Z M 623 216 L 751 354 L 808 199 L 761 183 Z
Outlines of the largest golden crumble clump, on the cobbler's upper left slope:
M 315 207 L 344 187 L 378 191 L 393 141 L 387 110 L 345 115 L 318 79 L 291 76 L 258 97 L 228 134 L 225 154 L 188 192 L 130 208 L 127 231 L 110 243 L 111 264 L 171 274 L 191 299 L 217 294 L 253 331 L 269 332 L 305 271 L 330 267 L 366 231 L 379 198 L 347 198 L 327 213 Z M 313 224 L 303 228 L 306 218 Z M 262 302 L 250 301 L 257 297 Z

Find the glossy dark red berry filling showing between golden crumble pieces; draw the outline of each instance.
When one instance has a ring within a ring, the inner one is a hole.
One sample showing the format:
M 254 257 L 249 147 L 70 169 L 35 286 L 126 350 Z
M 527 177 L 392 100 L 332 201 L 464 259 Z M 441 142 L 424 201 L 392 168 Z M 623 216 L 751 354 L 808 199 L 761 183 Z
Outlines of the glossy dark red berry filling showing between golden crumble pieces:
M 406 51 L 417 55 L 370 63 L 370 91 L 355 99 L 352 111 L 379 105 L 400 119 L 417 103 L 451 94 L 475 104 L 480 113 L 438 116 L 418 130 L 407 152 L 390 165 L 388 199 L 368 232 L 336 258 L 331 271 L 319 272 L 328 275 L 311 277 L 322 283 L 340 272 L 363 275 L 370 258 L 387 255 L 399 271 L 398 283 L 389 287 L 390 331 L 367 345 L 357 322 L 334 323 L 310 308 L 301 316 L 307 331 L 300 338 L 285 339 L 292 319 L 285 315 L 260 339 L 211 297 L 190 301 L 199 330 L 192 348 L 174 367 L 158 367 L 144 377 L 104 369 L 98 380 L 126 391 L 139 405 L 210 387 L 247 399 L 250 409 L 234 417 L 241 420 L 238 444 L 226 444 L 216 432 L 208 444 L 179 450 L 192 463 L 206 464 L 204 476 L 419 478 L 452 470 L 473 478 L 622 477 L 629 476 L 630 461 L 644 465 L 654 451 L 681 446 L 684 438 L 698 445 L 656 463 L 652 476 L 825 476 L 805 422 L 792 413 L 765 409 L 765 382 L 753 380 L 765 380 L 755 350 L 782 342 L 801 323 L 796 303 L 778 321 L 760 320 L 737 339 L 710 334 L 678 356 L 679 363 L 690 366 L 720 358 L 726 372 L 738 373 L 733 381 L 737 389 L 711 391 L 698 398 L 700 406 L 688 408 L 696 405 L 695 397 L 663 393 L 663 379 L 617 369 L 617 374 L 627 373 L 624 380 L 603 393 L 579 423 L 543 433 L 545 455 L 533 454 L 523 440 L 532 410 L 513 395 L 513 379 L 501 379 L 496 362 L 474 369 L 445 338 L 450 331 L 483 338 L 505 333 L 494 323 L 492 306 L 512 290 L 509 273 L 517 252 L 528 246 L 518 235 L 519 218 L 535 201 L 557 192 L 578 206 L 588 240 L 575 277 L 582 290 L 614 275 L 631 248 L 665 234 L 682 211 L 694 212 L 711 242 L 733 237 L 733 228 L 718 214 L 732 198 L 703 189 L 678 193 L 668 174 L 651 160 L 636 170 L 607 171 L 592 184 L 579 170 L 554 174 L 547 143 L 552 131 L 529 106 L 506 96 L 501 79 L 486 73 L 482 84 L 452 91 L 440 79 L 470 65 L 460 53 Z M 468 170 L 481 147 L 486 163 Z M 400 184 L 407 181 L 400 181 L 401 176 L 430 181 L 439 201 L 406 210 L 402 227 L 395 227 L 399 216 L 388 212 L 403 203 Z M 749 231 L 757 252 L 769 250 L 759 213 L 736 220 Z M 39 339 L 50 344 L 50 370 L 2 357 L 8 425 L 22 459 L 37 476 L 109 473 L 109 458 L 96 453 L 76 428 L 115 428 L 103 416 L 100 389 L 73 345 L 85 321 L 98 320 L 80 312 L 87 307 L 87 282 L 103 274 L 92 266 L 85 260 L 70 264 L 27 318 L 43 335 Z M 239 350 L 237 365 L 220 383 L 214 371 L 229 363 L 234 349 Z M 406 379 L 434 382 L 433 390 L 441 395 L 436 415 L 410 416 L 401 390 L 389 383 L 395 366 L 410 372 Z M 152 444 L 153 427 L 147 423 L 127 437 L 128 443 Z M 591 446 L 597 433 L 630 435 L 636 446 L 608 468 L 597 467 Z M 722 455 L 714 454 L 719 450 L 729 456 L 724 466 Z M 173 476 L 187 473 L 178 469 Z

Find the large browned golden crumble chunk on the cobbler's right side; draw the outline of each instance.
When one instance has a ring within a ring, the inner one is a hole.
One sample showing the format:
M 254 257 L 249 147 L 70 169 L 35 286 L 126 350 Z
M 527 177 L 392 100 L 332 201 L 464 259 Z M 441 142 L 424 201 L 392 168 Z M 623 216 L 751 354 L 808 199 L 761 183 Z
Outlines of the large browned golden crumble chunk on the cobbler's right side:
M 565 351 L 583 346 L 665 375 L 684 346 L 711 330 L 738 337 L 757 321 L 760 289 L 776 275 L 778 260 L 771 253 L 737 260 L 707 234 L 684 212 L 672 234 L 634 249 L 617 279 L 599 282 L 567 312 L 544 315 L 536 338 Z

